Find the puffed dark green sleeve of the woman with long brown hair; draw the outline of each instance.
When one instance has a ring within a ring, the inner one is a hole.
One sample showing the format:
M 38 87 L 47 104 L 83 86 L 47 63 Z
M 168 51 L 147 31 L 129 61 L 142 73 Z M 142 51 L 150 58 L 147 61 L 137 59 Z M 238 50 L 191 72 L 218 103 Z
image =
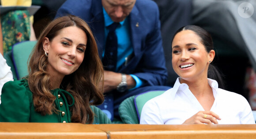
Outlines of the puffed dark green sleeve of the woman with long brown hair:
M 20 80 L 4 84 L 1 100 L 0 122 L 29 122 L 32 93 Z

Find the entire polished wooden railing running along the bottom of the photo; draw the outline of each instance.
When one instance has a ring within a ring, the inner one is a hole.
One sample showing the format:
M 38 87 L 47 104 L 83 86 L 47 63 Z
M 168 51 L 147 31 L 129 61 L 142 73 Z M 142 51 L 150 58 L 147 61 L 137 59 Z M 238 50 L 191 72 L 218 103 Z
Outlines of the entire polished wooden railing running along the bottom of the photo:
M 0 139 L 256 139 L 256 125 L 0 123 Z

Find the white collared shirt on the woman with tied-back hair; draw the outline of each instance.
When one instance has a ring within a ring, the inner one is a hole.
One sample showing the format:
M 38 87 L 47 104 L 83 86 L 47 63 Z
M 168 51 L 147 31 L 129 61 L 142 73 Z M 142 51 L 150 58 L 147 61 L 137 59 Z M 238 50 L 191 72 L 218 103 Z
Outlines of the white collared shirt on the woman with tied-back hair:
M 215 80 L 208 78 L 215 101 L 211 111 L 221 120 L 218 124 L 255 124 L 252 109 L 239 94 L 218 88 Z M 199 111 L 204 111 L 187 84 L 177 78 L 173 88 L 143 106 L 140 124 L 182 124 Z

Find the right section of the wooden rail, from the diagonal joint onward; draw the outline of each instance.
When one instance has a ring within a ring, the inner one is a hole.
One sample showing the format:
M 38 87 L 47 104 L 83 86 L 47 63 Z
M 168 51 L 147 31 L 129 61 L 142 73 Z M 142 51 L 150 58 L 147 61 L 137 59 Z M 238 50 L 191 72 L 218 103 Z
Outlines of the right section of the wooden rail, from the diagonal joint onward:
M 253 139 L 256 124 L 91 125 L 111 139 Z

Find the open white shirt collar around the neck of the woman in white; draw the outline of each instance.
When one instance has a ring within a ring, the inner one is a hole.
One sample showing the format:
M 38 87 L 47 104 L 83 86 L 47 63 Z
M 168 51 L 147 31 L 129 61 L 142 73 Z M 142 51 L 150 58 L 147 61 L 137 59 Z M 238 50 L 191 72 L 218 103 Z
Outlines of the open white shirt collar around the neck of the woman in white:
M 180 77 L 177 78 L 174 86 L 173 86 L 173 91 L 171 93 L 171 98 L 174 99 L 175 98 L 175 95 L 177 93 L 178 90 L 184 90 L 185 88 L 188 88 L 188 85 L 183 83 L 181 84 L 180 83 L 180 80 L 179 80 Z M 214 97 L 217 95 L 218 93 L 218 83 L 216 80 L 213 80 L 213 79 L 210 79 L 210 78 L 207 78 L 208 80 L 208 84 L 211 86 L 211 88 L 214 90 L 213 91 L 213 95 Z M 216 98 L 216 97 L 215 97 Z

